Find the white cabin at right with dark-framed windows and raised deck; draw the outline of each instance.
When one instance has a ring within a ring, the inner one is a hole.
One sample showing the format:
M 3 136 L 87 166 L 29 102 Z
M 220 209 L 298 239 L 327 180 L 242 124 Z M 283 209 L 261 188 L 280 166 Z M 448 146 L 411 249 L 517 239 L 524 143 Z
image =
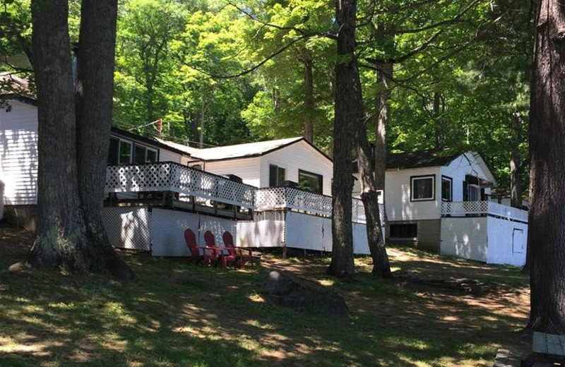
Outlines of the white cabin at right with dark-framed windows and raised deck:
M 388 241 L 486 263 L 523 265 L 528 212 L 490 200 L 496 179 L 476 152 L 387 157 Z M 356 182 L 355 193 L 359 193 Z

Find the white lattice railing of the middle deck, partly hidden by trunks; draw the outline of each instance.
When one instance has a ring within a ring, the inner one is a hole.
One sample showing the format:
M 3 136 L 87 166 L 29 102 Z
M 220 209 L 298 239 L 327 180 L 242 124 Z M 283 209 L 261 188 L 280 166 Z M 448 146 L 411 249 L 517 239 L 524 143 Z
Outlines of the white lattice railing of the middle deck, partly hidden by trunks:
M 331 196 L 311 193 L 292 187 L 259 188 L 255 199 L 258 210 L 294 209 L 311 214 L 331 217 Z M 384 223 L 384 205 L 379 204 L 381 223 Z M 357 223 L 367 222 L 361 200 L 352 198 L 352 220 Z

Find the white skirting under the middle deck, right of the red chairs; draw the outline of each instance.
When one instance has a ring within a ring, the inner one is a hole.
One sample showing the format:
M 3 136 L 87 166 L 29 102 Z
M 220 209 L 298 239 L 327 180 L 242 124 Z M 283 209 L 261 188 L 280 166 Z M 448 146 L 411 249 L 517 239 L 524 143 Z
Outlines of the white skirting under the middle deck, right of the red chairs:
M 330 252 L 331 219 L 284 210 L 256 212 L 253 221 L 237 222 L 237 241 L 238 246 L 244 247 L 286 244 L 290 248 Z M 357 255 L 370 253 L 365 224 L 353 224 L 353 251 Z

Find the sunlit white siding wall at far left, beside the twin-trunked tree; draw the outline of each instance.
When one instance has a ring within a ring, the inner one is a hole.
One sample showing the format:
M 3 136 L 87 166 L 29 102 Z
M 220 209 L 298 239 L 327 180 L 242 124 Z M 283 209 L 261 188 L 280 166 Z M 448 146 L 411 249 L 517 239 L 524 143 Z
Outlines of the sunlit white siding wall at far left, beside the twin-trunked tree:
M 10 101 L 0 110 L 0 180 L 6 205 L 37 204 L 37 107 Z

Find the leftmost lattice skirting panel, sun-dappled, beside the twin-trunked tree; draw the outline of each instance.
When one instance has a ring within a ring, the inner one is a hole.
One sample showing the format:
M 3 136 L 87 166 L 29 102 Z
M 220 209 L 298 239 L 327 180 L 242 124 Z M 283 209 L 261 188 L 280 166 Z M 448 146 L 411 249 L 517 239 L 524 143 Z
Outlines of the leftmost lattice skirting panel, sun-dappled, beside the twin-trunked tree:
M 146 207 L 105 207 L 102 219 L 112 246 L 150 251 L 151 213 Z

